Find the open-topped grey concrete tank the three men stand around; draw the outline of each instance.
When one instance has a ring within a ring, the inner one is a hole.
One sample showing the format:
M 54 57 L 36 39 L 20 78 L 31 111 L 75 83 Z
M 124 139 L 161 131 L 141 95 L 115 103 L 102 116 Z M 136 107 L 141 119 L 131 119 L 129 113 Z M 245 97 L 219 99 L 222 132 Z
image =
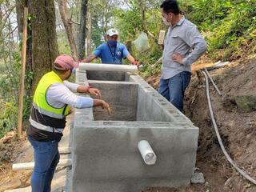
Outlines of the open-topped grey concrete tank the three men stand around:
M 91 109 L 74 111 L 72 191 L 139 192 L 188 185 L 198 128 L 138 75 L 126 74 L 126 82 L 88 81 L 85 76 L 78 72 L 77 82 L 98 87 L 117 111 L 110 118 L 100 110 L 94 110 L 94 118 Z M 141 140 L 150 142 L 155 165 L 142 160 Z

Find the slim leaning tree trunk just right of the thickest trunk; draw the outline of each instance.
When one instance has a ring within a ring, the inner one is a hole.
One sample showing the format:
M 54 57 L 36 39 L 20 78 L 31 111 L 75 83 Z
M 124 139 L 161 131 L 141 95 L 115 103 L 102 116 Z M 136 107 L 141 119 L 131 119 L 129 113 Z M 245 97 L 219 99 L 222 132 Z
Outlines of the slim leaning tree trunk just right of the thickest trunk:
M 67 15 L 66 0 L 58 0 L 58 8 L 59 8 L 59 12 L 62 17 L 62 22 L 65 26 L 67 38 L 70 43 L 71 54 L 72 54 L 73 58 L 77 59 L 78 58 L 78 50 L 77 50 L 77 46 L 75 45 L 75 41 L 74 41 L 72 23 L 70 21 L 70 18 L 68 18 L 68 15 Z

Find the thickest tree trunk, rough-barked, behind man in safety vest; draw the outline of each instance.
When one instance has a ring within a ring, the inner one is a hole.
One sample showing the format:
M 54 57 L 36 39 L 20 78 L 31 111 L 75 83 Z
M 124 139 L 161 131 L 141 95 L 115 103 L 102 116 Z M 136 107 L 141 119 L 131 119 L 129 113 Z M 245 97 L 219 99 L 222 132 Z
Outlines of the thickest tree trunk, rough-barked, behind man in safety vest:
M 34 73 L 31 89 L 34 90 L 42 75 L 52 69 L 54 59 L 58 55 L 58 44 L 54 0 L 30 0 L 28 7 L 32 18 L 31 40 L 28 42 L 30 51 L 27 53 L 30 60 L 27 65 L 31 66 Z

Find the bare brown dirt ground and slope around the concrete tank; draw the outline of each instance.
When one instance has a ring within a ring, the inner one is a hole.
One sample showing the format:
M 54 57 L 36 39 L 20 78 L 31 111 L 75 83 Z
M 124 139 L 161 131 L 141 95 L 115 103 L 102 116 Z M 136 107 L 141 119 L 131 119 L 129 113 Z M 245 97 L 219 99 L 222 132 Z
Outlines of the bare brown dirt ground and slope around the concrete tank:
M 211 100 L 214 115 L 222 141 L 234 162 L 246 170 L 251 177 L 256 178 L 256 111 L 242 113 L 233 102 L 234 97 L 244 94 L 256 95 L 256 57 L 229 66 L 211 70 L 210 75 L 222 92 L 219 96 L 214 86 L 210 84 Z M 158 86 L 158 76 L 147 81 Z M 191 184 L 180 189 L 154 188 L 143 192 L 210 192 L 238 191 L 256 192 L 256 186 L 244 180 L 226 161 L 211 124 L 210 113 L 206 99 L 206 87 L 203 78 L 198 80 L 193 75 L 189 88 L 186 90 L 185 114 L 199 127 L 197 163 L 199 171 L 205 176 L 204 184 Z M 22 152 L 22 140 L 17 141 L 13 136 L 0 140 L 0 183 L 21 178 L 22 186 L 28 185 L 30 171 L 16 174 L 10 170 L 17 154 Z M 12 141 L 12 142 L 11 142 Z

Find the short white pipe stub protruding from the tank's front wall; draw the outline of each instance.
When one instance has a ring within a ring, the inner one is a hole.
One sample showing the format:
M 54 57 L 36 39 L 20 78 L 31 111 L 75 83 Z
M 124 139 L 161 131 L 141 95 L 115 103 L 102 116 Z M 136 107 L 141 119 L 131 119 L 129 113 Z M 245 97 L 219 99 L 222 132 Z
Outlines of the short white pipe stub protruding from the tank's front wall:
M 138 150 L 141 153 L 146 165 L 154 165 L 154 163 L 157 161 L 157 156 L 154 154 L 154 150 L 152 150 L 150 143 L 146 140 L 138 142 Z

